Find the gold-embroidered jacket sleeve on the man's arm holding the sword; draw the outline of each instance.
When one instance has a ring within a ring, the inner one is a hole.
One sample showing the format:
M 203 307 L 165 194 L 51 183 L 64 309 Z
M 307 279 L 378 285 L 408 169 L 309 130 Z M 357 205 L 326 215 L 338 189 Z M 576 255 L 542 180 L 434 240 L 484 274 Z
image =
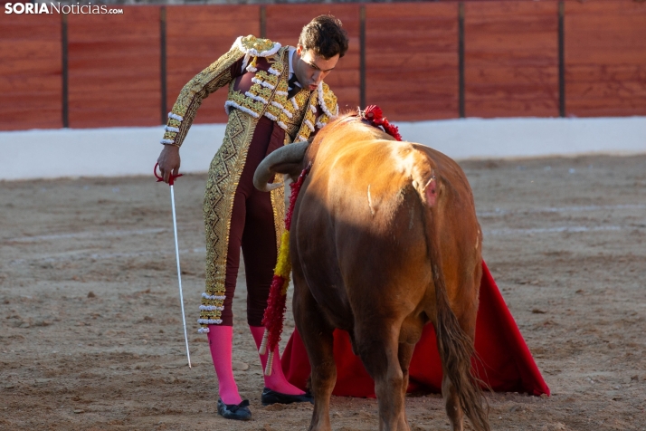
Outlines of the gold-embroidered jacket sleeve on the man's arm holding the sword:
M 228 53 L 225 53 L 186 83 L 182 91 L 179 92 L 177 101 L 173 105 L 173 110 L 171 110 L 171 114 L 175 118 L 168 119 L 163 142 L 169 143 L 172 141 L 173 145 L 177 147 L 182 145 L 202 101 L 209 94 L 232 81 L 231 66 L 243 56 L 244 53 L 233 46 Z M 182 120 L 178 120 L 177 117 L 182 118 Z M 168 128 L 173 129 L 169 130 Z M 174 131 L 175 129 L 179 129 L 179 131 Z

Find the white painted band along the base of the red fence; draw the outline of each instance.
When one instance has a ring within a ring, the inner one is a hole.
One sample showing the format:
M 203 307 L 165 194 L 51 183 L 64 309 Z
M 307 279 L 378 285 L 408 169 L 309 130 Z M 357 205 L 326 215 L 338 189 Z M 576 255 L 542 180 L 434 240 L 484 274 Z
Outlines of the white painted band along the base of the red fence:
M 396 123 L 404 139 L 456 159 L 646 153 L 646 117 Z M 0 132 L 0 179 L 152 175 L 163 127 Z M 194 125 L 182 172 L 205 172 L 224 125 Z

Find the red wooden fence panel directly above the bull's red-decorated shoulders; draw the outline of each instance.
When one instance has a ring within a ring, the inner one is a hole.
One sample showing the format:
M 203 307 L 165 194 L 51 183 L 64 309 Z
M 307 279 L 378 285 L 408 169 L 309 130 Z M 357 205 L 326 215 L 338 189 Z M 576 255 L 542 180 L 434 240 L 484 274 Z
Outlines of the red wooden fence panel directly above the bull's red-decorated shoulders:
M 458 4 L 366 6 L 366 102 L 391 120 L 459 115 Z

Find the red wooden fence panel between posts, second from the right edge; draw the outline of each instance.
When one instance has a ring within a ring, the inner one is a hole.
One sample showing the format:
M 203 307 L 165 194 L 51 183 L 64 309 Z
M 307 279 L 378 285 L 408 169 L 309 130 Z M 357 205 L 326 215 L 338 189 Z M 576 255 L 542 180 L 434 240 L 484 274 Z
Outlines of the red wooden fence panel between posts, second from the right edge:
M 468 4 L 464 35 L 467 115 L 558 116 L 558 3 Z

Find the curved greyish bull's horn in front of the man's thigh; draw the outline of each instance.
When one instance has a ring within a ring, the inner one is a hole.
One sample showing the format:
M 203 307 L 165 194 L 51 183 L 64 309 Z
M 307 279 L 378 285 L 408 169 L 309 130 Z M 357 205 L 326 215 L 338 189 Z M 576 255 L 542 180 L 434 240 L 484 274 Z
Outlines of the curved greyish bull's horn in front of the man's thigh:
M 253 186 L 261 192 L 269 192 L 281 186 L 269 183 L 274 174 L 298 175 L 308 147 L 309 141 L 294 142 L 272 152 L 256 168 L 253 174 Z

